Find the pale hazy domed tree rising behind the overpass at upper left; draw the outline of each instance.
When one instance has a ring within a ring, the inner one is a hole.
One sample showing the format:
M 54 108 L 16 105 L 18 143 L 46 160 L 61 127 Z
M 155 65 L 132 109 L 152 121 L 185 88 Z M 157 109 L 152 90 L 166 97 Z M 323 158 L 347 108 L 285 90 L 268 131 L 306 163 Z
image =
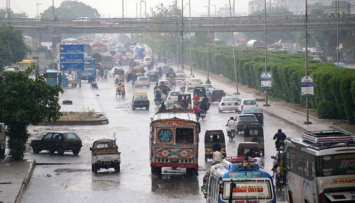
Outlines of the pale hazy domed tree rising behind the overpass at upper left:
M 52 16 L 52 6 L 46 9 L 41 15 Z M 98 11 L 82 2 L 64 1 L 58 8 L 54 8 L 54 15 L 58 18 L 100 18 Z

